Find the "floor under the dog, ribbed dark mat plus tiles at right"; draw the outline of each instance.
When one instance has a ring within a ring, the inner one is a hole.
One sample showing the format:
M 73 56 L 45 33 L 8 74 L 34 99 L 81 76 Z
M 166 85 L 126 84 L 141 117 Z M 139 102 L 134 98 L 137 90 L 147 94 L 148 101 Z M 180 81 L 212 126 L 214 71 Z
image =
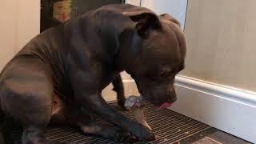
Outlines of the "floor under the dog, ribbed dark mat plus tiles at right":
M 115 102 L 110 105 L 118 109 Z M 129 118 L 133 118 L 130 111 L 122 111 Z M 136 142 L 136 143 L 162 143 L 162 144 L 246 144 L 240 138 L 226 134 L 221 130 L 214 129 L 202 122 L 178 114 L 172 110 L 156 110 L 150 104 L 146 105 L 146 121 L 154 130 L 157 139 L 153 142 Z M 109 122 L 98 121 L 103 126 L 113 126 Z M 97 137 L 94 135 L 82 134 L 80 130 L 69 126 L 49 126 L 46 130 L 46 137 L 60 142 L 74 144 L 92 143 L 92 144 L 121 144 L 107 138 Z M 21 138 L 21 129 L 11 130 L 8 138 L 8 144 L 18 144 Z

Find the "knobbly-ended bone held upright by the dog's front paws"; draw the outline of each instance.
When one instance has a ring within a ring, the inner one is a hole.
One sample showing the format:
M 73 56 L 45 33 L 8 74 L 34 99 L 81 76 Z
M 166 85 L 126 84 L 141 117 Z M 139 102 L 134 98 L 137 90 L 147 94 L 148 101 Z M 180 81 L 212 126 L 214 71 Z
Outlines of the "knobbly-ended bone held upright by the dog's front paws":
M 146 118 L 144 115 L 145 103 L 143 102 L 142 96 L 131 95 L 130 97 L 126 98 L 125 106 L 127 109 L 133 111 L 134 119 L 136 122 L 139 122 L 143 126 L 146 126 L 150 130 L 152 130 L 150 125 L 146 122 Z

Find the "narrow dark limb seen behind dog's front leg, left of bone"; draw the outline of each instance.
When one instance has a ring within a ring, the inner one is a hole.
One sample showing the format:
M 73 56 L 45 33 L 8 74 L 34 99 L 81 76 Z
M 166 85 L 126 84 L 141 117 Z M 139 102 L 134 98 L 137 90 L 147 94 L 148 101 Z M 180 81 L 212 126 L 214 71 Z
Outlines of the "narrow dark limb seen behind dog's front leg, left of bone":
M 113 90 L 116 91 L 118 96 L 118 105 L 122 107 L 123 110 L 126 110 L 126 107 L 124 106 L 126 102 L 126 97 L 124 94 L 124 88 L 122 83 L 121 75 L 118 74 L 116 78 L 112 81 L 112 84 L 114 86 Z

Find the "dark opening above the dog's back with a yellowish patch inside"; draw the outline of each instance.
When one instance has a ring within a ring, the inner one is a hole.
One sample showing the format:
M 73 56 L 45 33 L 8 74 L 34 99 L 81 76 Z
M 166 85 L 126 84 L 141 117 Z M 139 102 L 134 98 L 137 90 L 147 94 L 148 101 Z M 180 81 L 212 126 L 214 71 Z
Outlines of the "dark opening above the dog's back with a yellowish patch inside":
M 41 0 L 40 32 L 100 6 L 124 0 Z

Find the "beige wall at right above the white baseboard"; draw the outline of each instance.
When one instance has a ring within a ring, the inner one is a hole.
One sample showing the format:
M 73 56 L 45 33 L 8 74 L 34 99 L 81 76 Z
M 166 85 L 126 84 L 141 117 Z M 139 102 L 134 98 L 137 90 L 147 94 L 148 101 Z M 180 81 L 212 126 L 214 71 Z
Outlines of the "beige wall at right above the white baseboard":
M 255 6 L 255 0 L 190 0 L 181 74 L 256 92 Z

